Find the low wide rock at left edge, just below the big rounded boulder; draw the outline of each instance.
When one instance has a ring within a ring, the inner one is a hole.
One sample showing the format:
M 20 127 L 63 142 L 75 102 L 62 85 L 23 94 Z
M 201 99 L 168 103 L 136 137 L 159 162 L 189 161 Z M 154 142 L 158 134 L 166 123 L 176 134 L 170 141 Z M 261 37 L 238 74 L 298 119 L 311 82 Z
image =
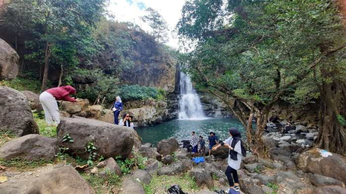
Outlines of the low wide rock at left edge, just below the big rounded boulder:
M 5 160 L 12 158 L 51 160 L 54 159 L 57 152 L 56 139 L 30 134 L 7 142 L 0 148 L 0 158 Z

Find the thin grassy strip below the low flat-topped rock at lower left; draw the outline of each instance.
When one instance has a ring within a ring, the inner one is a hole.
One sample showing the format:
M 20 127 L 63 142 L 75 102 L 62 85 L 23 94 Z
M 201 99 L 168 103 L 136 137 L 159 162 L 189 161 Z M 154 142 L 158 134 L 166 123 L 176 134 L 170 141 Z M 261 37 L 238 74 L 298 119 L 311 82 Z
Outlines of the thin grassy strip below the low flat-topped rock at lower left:
M 0 165 L 6 167 L 15 167 L 17 169 L 31 169 L 40 166 L 45 166 L 47 163 L 52 163 L 50 160 L 40 159 L 40 160 L 26 160 L 21 158 L 12 158 L 9 160 L 4 160 L 0 158 Z

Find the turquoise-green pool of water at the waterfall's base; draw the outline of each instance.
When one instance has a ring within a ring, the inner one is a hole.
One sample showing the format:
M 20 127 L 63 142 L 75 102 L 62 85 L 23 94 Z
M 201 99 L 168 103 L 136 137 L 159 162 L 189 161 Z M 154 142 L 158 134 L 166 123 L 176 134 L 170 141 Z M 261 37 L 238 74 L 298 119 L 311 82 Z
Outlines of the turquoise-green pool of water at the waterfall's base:
M 208 141 L 208 135 L 211 131 L 215 132 L 219 140 L 225 140 L 229 137 L 228 129 L 230 127 L 238 128 L 243 136 L 245 128 L 235 118 L 208 118 L 203 120 L 171 120 L 155 126 L 138 127 L 135 130 L 142 137 L 143 143 L 156 145 L 162 139 L 170 137 L 176 138 L 179 143 L 181 140 L 189 140 L 192 131 L 197 136 L 203 136 Z

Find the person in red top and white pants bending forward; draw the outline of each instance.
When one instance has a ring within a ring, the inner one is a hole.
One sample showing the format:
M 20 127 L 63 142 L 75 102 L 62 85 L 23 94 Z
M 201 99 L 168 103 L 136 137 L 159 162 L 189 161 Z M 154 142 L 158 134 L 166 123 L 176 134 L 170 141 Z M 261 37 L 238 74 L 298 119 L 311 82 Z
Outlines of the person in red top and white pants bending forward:
M 45 90 L 40 95 L 40 102 L 44 111 L 45 122 L 48 125 L 60 123 L 60 114 L 58 109 L 57 100 L 77 102 L 75 98 L 72 98 L 70 94 L 76 94 L 76 89 L 71 85 L 62 87 L 53 87 Z

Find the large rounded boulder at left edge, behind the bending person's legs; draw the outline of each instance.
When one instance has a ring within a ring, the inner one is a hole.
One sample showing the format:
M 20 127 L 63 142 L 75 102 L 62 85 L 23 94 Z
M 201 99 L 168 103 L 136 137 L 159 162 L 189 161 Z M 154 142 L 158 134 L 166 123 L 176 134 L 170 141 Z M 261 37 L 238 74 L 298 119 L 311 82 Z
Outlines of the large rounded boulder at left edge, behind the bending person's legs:
M 0 87 L 0 123 L 16 136 L 39 133 L 29 102 L 21 92 Z

